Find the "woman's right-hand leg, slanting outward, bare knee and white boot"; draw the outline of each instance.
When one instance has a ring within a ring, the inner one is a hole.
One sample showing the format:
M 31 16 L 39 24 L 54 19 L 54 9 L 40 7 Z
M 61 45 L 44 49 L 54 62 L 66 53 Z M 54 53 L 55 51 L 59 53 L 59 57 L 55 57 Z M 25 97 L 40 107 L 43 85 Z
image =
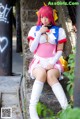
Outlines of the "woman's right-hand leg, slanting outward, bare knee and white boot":
M 66 109 L 68 101 L 61 84 L 58 81 L 60 73 L 57 69 L 51 69 L 47 71 L 47 82 L 51 86 L 57 100 L 59 101 L 62 109 Z

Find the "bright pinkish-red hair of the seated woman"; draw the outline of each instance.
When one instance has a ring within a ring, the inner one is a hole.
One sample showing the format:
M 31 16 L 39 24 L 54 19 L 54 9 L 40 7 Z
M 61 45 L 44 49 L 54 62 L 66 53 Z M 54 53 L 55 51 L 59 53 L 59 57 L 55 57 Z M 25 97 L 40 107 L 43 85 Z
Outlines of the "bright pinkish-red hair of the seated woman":
M 42 25 L 41 16 L 47 17 L 52 25 L 55 25 L 53 17 L 53 9 L 50 6 L 43 6 L 38 11 L 38 22 L 37 25 Z

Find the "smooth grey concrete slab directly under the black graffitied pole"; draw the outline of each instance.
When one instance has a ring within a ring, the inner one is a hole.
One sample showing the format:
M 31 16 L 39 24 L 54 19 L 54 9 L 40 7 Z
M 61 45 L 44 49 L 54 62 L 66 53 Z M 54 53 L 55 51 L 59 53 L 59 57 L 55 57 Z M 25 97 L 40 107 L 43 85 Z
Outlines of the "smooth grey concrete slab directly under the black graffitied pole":
M 20 86 L 20 76 L 0 76 L 0 92 L 15 93 Z

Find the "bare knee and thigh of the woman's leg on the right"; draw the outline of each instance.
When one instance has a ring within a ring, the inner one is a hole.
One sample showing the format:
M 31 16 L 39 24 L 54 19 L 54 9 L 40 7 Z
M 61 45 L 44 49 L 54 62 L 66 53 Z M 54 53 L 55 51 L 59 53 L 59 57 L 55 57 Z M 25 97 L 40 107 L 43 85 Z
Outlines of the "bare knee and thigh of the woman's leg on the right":
M 58 82 L 60 72 L 58 69 L 51 69 L 47 71 L 47 82 L 50 86 Z

